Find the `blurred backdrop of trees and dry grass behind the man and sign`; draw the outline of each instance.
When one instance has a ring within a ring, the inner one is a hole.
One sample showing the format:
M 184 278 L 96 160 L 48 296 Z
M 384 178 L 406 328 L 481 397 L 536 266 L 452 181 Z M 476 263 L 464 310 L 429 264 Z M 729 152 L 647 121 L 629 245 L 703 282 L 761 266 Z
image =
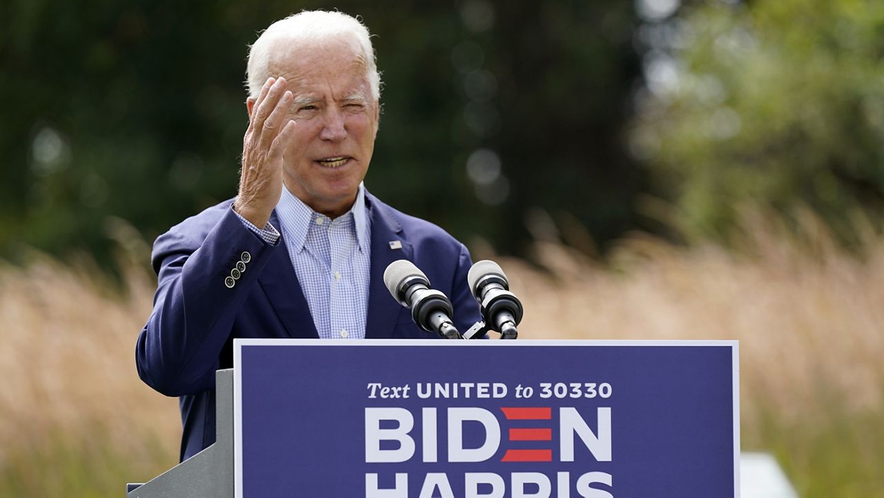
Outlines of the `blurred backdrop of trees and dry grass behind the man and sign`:
M 526 339 L 736 339 L 743 449 L 884 496 L 879 0 L 5 0 L 0 495 L 177 463 L 135 338 L 158 234 L 236 193 L 248 43 L 362 16 L 366 186 L 498 260 Z

